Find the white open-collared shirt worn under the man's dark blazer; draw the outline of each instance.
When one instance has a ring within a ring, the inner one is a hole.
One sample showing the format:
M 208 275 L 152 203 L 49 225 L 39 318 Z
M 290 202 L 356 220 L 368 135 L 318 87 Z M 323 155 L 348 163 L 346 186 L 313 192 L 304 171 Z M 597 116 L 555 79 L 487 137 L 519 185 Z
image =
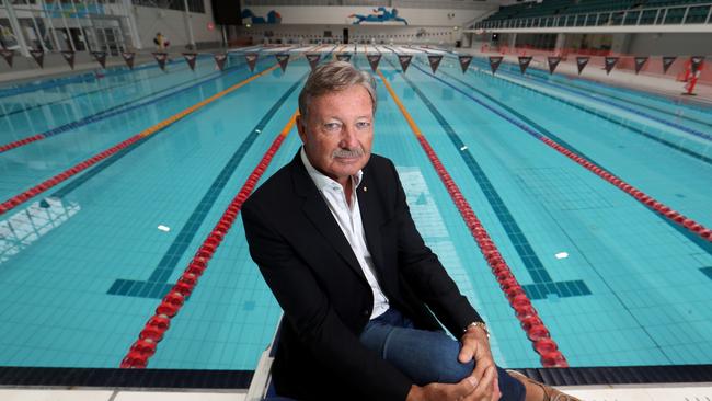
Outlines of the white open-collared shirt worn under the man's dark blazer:
M 374 293 L 374 310 L 371 311 L 370 319 L 375 319 L 388 310 L 388 298 L 386 298 L 386 295 L 381 290 L 381 287 L 376 279 L 374 261 L 371 259 L 370 252 L 368 251 L 368 247 L 366 247 L 364 224 L 361 221 L 361 213 L 358 207 L 358 196 L 356 196 L 356 190 L 361 182 L 364 172 L 359 170 L 356 175 L 352 175 L 351 177 L 353 190 L 349 207 L 348 203 L 346 202 L 346 194 L 344 193 L 344 188 L 341 186 L 341 184 L 314 169 L 309 162 L 303 147 L 301 148 L 300 156 L 301 161 L 307 168 L 309 176 L 314 182 L 317 188 L 319 190 L 319 193 L 326 202 L 331 214 L 334 216 L 336 222 L 338 224 L 338 227 L 346 237 L 348 244 L 356 255 L 358 264 L 364 271 L 364 275 L 368 280 L 368 284 L 371 287 L 371 291 Z

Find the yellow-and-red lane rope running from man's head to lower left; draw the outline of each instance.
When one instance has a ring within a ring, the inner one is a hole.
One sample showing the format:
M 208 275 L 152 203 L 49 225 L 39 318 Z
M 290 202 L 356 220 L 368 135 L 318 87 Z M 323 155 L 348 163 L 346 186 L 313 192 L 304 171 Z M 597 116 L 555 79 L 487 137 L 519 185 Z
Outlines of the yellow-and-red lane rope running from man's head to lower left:
M 205 273 L 215 251 L 220 247 L 220 242 L 222 242 L 222 239 L 238 217 L 240 209 L 242 209 L 242 204 L 248 199 L 260 181 L 260 177 L 269 165 L 272 158 L 291 130 L 296 117 L 297 113 L 291 116 L 289 123 L 287 123 L 282 133 L 272 142 L 272 146 L 269 146 L 269 149 L 262 157 L 257 167 L 248 176 L 244 185 L 225 210 L 218 224 L 203 241 L 203 244 L 198 248 L 198 251 L 183 271 L 179 280 L 156 308 L 156 313 L 146 322 L 143 330 L 138 334 L 138 340 L 131 344 L 128 353 L 122 360 L 122 368 L 146 368 L 148 366 L 148 359 L 156 354 L 158 343 L 171 326 L 171 319 L 177 314 L 185 299 L 195 290 L 198 278 Z

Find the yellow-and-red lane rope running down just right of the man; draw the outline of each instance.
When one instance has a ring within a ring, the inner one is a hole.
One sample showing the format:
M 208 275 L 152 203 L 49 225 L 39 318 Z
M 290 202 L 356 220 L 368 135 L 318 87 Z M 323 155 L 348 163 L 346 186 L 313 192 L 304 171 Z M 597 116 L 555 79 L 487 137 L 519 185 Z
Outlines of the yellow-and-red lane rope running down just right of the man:
M 380 71 L 378 71 L 378 73 L 381 77 L 386 89 L 390 92 L 395 104 L 407 121 L 407 124 L 411 126 L 411 129 L 413 130 L 413 134 L 415 134 L 421 147 L 425 150 L 425 153 L 435 168 L 435 171 L 440 176 L 440 181 L 445 184 L 447 192 L 455 202 L 460 215 L 462 215 L 470 233 L 474 237 L 474 240 L 480 247 L 484 259 L 487 261 L 492 273 L 496 276 L 499 287 L 514 309 L 515 316 L 519 320 L 521 328 L 527 333 L 529 341 L 531 341 L 533 350 L 540 355 L 541 365 L 543 367 L 569 367 L 566 358 L 561 351 L 559 351 L 556 343 L 551 339 L 551 333 L 542 322 L 541 318 L 539 318 L 537 309 L 535 309 L 524 288 L 519 282 L 517 282 L 516 277 L 512 273 L 512 268 L 507 265 L 507 262 L 497 250 L 497 247 L 494 244 L 492 238 L 490 238 L 490 234 L 484 229 L 484 226 L 482 226 L 482 222 L 472 210 L 472 207 L 464 196 L 462 196 L 460 188 L 447 172 L 443 162 L 440 162 L 440 159 L 430 147 L 430 144 L 425 139 L 425 136 L 415 124 L 411 114 L 405 110 L 405 106 L 395 94 L 395 91 L 393 91 L 391 84 Z

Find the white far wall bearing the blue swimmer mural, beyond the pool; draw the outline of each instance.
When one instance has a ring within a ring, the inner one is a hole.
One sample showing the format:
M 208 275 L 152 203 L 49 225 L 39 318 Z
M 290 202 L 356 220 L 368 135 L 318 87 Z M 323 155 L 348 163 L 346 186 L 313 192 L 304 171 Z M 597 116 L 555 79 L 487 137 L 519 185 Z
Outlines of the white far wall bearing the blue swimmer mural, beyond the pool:
M 474 8 L 476 7 L 476 9 Z M 407 21 L 409 25 L 415 26 L 455 26 L 470 22 L 478 16 L 496 9 L 496 4 L 482 3 L 473 4 L 473 9 L 406 9 L 397 8 L 398 16 Z M 282 15 L 282 24 L 351 24 L 351 14 L 368 15 L 372 13 L 370 7 L 244 7 L 255 15 L 267 18 L 267 13 L 275 10 Z M 387 8 L 390 10 L 390 8 Z M 249 19 L 244 20 L 245 22 Z M 378 25 L 403 25 L 402 22 L 364 23 Z

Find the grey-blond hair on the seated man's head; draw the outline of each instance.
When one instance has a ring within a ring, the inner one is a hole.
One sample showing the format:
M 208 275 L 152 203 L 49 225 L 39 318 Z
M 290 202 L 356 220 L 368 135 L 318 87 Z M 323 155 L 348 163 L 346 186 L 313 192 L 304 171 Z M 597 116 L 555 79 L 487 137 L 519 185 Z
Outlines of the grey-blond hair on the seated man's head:
M 314 98 L 361 85 L 371 96 L 372 112 L 376 114 L 376 80 L 368 71 L 354 68 L 346 61 L 330 61 L 317 67 L 299 93 L 299 114 L 307 116 L 309 104 Z

